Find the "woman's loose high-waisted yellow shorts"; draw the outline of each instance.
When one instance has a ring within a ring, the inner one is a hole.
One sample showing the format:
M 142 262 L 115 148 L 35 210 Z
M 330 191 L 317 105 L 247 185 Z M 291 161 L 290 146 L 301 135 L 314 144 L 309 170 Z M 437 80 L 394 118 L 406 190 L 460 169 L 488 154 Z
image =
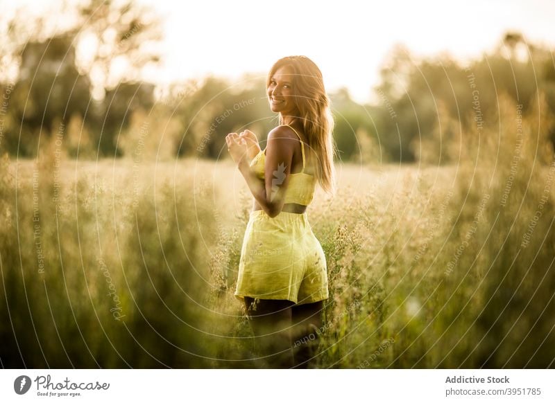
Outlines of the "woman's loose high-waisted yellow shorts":
M 327 265 L 307 213 L 282 211 L 271 218 L 251 211 L 235 296 L 284 299 L 298 305 L 328 298 Z

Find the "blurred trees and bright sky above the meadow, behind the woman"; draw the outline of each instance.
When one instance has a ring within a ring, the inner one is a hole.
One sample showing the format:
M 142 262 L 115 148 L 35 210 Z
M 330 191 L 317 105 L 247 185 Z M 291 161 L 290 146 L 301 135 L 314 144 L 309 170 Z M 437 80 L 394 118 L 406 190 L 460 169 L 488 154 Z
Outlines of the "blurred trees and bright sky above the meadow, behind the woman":
M 130 156 L 139 131 L 133 123 L 148 118 L 145 152 L 157 159 L 221 158 L 228 132 L 250 125 L 264 138 L 275 124 L 264 80 L 289 54 L 305 54 L 323 71 L 342 161 L 450 163 L 436 151 L 455 134 L 438 127 L 438 114 L 466 125 L 472 89 L 465 69 L 475 75 L 484 116 L 495 113 L 501 93 L 527 111 L 540 89 L 554 105 L 548 2 L 456 10 L 393 2 L 379 17 L 356 2 L 281 7 L 6 2 L 0 80 L 2 93 L 10 86 L 14 95 L 2 150 L 36 157 L 63 124 L 62 148 L 72 158 Z M 251 99 L 210 130 L 224 111 Z

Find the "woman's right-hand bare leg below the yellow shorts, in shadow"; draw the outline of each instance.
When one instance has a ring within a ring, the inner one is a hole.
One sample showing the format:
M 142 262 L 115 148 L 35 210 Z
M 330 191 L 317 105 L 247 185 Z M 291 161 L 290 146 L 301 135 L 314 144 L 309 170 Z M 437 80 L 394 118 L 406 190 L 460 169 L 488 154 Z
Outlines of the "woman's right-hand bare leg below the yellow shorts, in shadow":
M 316 355 L 322 332 L 323 301 L 294 305 L 291 308 L 293 320 L 293 357 L 295 368 L 309 368 Z

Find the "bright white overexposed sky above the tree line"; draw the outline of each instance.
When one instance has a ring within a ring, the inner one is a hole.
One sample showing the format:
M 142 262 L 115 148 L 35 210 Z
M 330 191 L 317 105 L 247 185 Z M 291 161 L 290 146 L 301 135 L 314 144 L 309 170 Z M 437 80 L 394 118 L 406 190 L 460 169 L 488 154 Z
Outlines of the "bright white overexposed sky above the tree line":
M 162 69 L 149 80 L 169 82 L 208 73 L 265 75 L 285 55 L 307 55 L 328 91 L 348 87 L 371 100 L 379 66 L 396 43 L 416 57 L 447 51 L 479 57 L 518 30 L 529 42 L 555 47 L 555 1 L 467 0 L 138 0 L 165 17 Z M 18 0 L 48 8 L 57 0 Z M 6 6 L 11 1 L 0 0 Z

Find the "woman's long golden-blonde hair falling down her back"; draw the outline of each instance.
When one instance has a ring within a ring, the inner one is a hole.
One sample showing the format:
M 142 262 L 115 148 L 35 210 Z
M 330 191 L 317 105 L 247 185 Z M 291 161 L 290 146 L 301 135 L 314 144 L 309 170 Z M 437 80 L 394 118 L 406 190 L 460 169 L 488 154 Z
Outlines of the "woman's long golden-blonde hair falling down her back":
M 322 188 L 333 195 L 336 192 L 334 156 L 336 147 L 333 139 L 334 119 L 330 111 L 322 73 L 318 66 L 306 56 L 287 56 L 275 62 L 268 73 L 266 88 L 272 76 L 283 66 L 293 69 L 293 99 L 300 111 L 300 120 L 307 136 L 309 148 L 314 151 L 316 178 Z M 280 115 L 280 125 L 282 125 Z

